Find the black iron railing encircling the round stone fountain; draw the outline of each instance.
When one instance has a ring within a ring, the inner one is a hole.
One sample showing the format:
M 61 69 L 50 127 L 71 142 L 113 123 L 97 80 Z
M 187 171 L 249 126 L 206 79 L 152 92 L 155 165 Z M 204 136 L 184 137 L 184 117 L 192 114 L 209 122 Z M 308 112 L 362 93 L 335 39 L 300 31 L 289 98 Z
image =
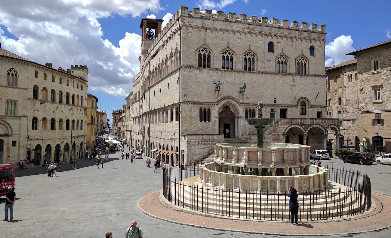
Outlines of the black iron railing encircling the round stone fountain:
M 164 197 L 177 206 L 202 213 L 256 220 L 290 220 L 286 194 L 203 186 L 196 183 L 197 177 L 194 177 L 199 175 L 202 164 L 168 168 L 163 173 Z M 334 166 L 324 168 L 329 170 L 328 179 L 342 186 L 316 192 L 299 191 L 300 220 L 346 218 L 369 210 L 371 181 L 366 174 Z

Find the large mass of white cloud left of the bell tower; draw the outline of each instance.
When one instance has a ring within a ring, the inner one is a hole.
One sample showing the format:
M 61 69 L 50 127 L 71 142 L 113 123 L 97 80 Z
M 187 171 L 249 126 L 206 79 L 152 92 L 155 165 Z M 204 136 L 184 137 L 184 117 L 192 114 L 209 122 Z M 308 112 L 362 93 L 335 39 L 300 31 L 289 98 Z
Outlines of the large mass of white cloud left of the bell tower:
M 51 0 L 50 4 L 34 0 L 18 7 L 4 1 L 0 42 L 6 50 L 40 64 L 51 62 L 54 68 L 87 65 L 91 89 L 127 96 L 140 70 L 141 37 L 127 32 L 116 47 L 103 37 L 99 19 L 114 14 L 136 17 L 161 9 L 159 0 Z M 16 39 L 6 37 L 5 31 Z

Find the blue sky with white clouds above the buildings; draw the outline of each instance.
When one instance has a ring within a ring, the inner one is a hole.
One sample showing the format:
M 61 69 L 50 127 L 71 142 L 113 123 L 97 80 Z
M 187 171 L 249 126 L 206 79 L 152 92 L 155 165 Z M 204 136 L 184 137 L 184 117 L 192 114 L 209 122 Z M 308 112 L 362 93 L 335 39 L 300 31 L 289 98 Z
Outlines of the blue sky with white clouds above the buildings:
M 386 0 L 1 0 L 1 47 L 56 69 L 87 65 L 88 92 L 111 120 L 140 71 L 141 18 L 163 19 L 164 26 L 181 5 L 189 11 L 197 7 L 326 25 L 325 66 L 391 39 L 391 1 Z

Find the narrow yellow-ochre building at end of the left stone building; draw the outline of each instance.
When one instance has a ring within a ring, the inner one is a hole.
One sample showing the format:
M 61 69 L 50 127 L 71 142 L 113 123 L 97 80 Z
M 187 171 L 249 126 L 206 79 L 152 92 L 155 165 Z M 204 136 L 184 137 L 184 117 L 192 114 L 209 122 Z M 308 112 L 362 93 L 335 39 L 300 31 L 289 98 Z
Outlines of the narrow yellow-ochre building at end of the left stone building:
M 87 135 L 86 135 L 86 146 L 88 149 L 94 149 L 96 146 L 97 136 L 97 108 L 98 98 L 92 94 L 87 94 Z

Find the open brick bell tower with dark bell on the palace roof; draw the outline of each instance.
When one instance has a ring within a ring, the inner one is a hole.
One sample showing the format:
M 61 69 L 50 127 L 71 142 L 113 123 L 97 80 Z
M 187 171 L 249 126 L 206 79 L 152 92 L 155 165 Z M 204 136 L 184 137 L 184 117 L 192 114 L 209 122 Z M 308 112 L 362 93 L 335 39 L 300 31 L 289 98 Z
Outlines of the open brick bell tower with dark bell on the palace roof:
M 151 46 L 154 39 L 161 31 L 161 23 L 163 20 L 142 18 L 140 23 L 141 28 L 141 51 L 145 52 Z M 155 33 L 152 31 L 155 30 Z

